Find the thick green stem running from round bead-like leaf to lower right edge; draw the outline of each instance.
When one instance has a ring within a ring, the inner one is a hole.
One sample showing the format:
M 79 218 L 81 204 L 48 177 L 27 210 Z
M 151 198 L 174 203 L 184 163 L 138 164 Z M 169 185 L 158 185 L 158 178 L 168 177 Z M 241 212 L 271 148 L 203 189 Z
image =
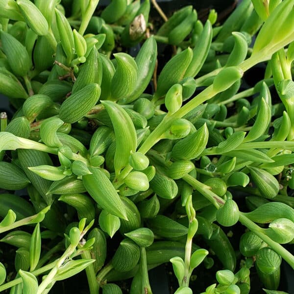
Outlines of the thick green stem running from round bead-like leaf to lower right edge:
M 294 256 L 287 249 L 272 241 L 270 237 L 261 232 L 260 227 L 253 221 L 250 221 L 242 212 L 239 213 L 239 221 L 250 231 L 254 232 L 266 244 L 268 244 L 276 253 L 281 255 L 281 257 L 294 269 Z

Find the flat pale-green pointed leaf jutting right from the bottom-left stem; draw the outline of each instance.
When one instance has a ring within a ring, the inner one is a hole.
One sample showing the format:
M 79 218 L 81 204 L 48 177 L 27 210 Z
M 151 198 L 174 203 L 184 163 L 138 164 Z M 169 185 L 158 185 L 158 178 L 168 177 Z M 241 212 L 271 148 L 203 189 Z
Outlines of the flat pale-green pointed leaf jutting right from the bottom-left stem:
M 95 262 L 95 259 L 70 260 L 65 265 L 59 268 L 55 276 L 55 280 L 61 281 L 61 280 L 68 279 L 71 276 L 86 269 L 90 264 L 94 262 Z

